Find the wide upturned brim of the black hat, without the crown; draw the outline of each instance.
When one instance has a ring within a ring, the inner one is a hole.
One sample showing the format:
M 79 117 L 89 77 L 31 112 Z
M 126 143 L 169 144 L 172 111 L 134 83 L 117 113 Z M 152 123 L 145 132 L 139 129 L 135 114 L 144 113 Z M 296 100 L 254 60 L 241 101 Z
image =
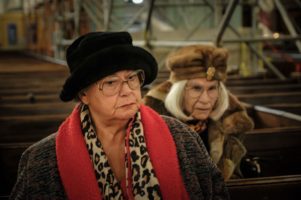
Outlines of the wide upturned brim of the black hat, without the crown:
M 82 62 L 67 78 L 60 93 L 62 101 L 70 101 L 90 84 L 122 70 L 142 69 L 142 86 L 152 83 L 158 74 L 156 59 L 147 50 L 133 45 L 114 45 L 102 49 Z

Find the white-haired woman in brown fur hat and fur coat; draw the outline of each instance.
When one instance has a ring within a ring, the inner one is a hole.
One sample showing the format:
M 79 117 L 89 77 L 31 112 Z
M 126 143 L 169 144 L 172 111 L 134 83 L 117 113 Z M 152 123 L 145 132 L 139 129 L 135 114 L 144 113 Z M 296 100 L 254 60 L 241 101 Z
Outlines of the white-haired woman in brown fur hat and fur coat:
M 212 45 L 190 45 L 171 54 L 170 79 L 148 91 L 142 102 L 159 114 L 174 116 L 202 138 L 225 179 L 242 178 L 245 132 L 253 128 L 246 109 L 223 81 L 228 51 Z

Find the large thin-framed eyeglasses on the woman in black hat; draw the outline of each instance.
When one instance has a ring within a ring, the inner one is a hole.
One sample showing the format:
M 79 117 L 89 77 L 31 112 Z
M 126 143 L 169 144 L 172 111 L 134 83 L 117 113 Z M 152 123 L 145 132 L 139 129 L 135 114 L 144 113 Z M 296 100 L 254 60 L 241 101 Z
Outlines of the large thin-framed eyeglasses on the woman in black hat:
M 127 82 L 131 89 L 138 89 L 144 82 L 144 71 L 142 69 L 136 70 L 128 75 L 127 80 L 123 80 L 118 76 L 108 77 L 102 80 L 101 84 L 97 86 L 100 93 L 105 96 L 111 96 L 118 93 L 124 82 Z

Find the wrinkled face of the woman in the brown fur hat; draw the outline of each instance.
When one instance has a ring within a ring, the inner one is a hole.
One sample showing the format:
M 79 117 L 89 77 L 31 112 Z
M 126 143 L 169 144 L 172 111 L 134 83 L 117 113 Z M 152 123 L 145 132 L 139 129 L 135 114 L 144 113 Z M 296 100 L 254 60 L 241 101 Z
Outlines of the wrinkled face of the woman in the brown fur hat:
M 202 93 L 202 91 L 204 92 Z M 208 81 L 206 78 L 190 79 L 186 84 L 183 95 L 186 110 L 194 118 L 205 120 L 212 112 L 218 98 L 218 81 Z

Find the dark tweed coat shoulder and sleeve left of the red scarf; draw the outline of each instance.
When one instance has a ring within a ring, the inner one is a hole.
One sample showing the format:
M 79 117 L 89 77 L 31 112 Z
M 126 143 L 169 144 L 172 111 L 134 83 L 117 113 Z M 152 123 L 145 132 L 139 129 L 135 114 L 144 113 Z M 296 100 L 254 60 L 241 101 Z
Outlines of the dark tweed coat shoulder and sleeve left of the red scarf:
M 22 154 L 10 199 L 68 199 L 57 166 L 55 142 L 56 133 Z

